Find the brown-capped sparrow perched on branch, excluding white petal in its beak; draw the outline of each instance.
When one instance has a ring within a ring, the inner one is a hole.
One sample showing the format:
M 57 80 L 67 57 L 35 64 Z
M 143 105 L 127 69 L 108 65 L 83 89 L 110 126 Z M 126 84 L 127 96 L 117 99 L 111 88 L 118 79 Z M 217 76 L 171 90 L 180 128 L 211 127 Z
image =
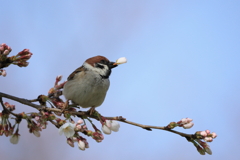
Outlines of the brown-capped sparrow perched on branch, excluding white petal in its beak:
M 104 56 L 87 59 L 83 65 L 72 72 L 63 87 L 63 95 L 82 108 L 89 108 L 90 113 L 100 106 L 107 94 L 112 69 L 118 63 L 110 62 Z

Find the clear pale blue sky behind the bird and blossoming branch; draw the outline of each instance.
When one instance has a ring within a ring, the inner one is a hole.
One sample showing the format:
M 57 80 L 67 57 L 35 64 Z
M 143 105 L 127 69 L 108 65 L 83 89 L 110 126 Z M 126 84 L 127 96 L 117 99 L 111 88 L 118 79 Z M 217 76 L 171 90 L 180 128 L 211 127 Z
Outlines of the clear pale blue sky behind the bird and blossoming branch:
M 120 131 L 90 148 L 71 148 L 49 124 L 40 138 L 21 124 L 12 145 L 0 137 L 0 154 L 11 159 L 233 159 L 240 157 L 239 1 L 1 1 L 0 43 L 12 55 L 24 48 L 27 68 L 10 66 L 0 91 L 26 99 L 47 94 L 57 75 L 68 75 L 89 57 L 128 63 L 113 70 L 105 102 L 97 110 L 142 124 L 164 126 L 184 117 L 194 133 L 218 138 L 213 155 L 201 156 L 184 138 L 121 123 Z M 16 104 L 17 111 L 33 111 Z M 235 123 L 236 122 L 236 123 Z M 99 124 L 98 124 L 99 125 Z M 100 126 L 100 125 L 99 125 Z M 14 153 L 14 154 L 12 154 Z

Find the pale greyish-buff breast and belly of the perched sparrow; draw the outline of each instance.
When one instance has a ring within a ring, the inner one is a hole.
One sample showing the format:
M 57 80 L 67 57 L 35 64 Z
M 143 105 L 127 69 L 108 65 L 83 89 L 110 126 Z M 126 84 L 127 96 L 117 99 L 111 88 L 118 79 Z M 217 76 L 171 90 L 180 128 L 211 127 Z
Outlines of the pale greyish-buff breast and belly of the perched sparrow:
M 79 74 L 64 85 L 63 94 L 83 108 L 98 107 L 103 103 L 109 85 L 109 79 L 102 79 L 97 74 Z

